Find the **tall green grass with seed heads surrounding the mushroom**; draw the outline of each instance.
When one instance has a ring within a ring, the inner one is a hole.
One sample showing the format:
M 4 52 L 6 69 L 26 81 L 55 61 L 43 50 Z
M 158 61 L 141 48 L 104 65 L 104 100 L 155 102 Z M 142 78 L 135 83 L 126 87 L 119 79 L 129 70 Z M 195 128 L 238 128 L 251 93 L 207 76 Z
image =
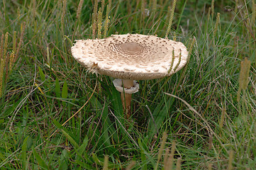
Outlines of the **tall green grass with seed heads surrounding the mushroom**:
M 172 1 L 102 2 L 0 1 L 1 169 L 254 169 L 255 2 L 177 1 L 173 20 Z M 140 81 L 132 123 L 70 52 L 116 33 L 191 48 L 177 74 Z

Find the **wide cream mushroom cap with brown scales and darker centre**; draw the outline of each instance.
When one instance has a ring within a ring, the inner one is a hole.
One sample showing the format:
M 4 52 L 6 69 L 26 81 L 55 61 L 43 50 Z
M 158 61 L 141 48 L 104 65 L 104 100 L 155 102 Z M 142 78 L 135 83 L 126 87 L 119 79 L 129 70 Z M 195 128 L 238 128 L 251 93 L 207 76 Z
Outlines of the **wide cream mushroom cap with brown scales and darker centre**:
M 140 34 L 76 40 L 71 51 L 92 72 L 136 80 L 174 74 L 187 63 L 189 53 L 182 42 Z

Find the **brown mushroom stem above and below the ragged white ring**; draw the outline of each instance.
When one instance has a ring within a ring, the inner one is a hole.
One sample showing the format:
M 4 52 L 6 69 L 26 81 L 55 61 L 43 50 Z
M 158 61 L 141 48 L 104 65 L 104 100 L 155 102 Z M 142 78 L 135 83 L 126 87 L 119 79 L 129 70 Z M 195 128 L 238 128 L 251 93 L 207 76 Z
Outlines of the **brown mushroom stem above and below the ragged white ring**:
M 130 79 L 122 79 L 123 87 L 130 89 L 133 87 L 133 80 Z M 132 94 L 124 94 L 121 92 L 121 99 L 123 103 L 123 110 L 126 111 L 126 118 L 130 118 L 130 101 L 132 99 Z

